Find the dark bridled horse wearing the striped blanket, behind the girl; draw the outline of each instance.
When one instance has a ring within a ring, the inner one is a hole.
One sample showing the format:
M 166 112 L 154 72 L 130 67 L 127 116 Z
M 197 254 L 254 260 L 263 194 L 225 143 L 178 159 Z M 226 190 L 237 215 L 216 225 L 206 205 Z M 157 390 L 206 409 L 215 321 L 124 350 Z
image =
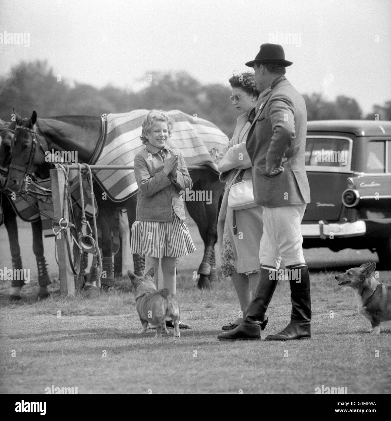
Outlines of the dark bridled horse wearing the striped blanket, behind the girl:
M 30 172 L 35 172 L 42 178 L 48 177 L 51 160 L 45 160 L 45 157 L 51 151 L 55 153 L 77 151 L 79 163 L 94 163 L 103 148 L 104 121 L 102 117 L 89 116 L 37 118 L 35 111 L 30 118 L 26 119 L 16 115 L 17 125 L 12 144 L 15 154 L 10 165 L 7 189 L 19 192 L 24 178 Z M 212 123 L 207 123 L 212 126 Z M 214 128 L 218 130 L 215 126 Z M 221 131 L 220 133 L 228 141 Z M 205 200 L 186 202 L 189 214 L 196 222 L 205 245 L 204 256 L 197 271 L 200 275 L 197 286 L 208 288 L 210 282 L 218 279 L 214 246 L 217 241 L 217 216 L 225 185 L 219 181 L 218 174 L 209 167 L 197 168 L 189 173 L 193 180 L 192 191 L 196 192 L 197 189 L 211 191 L 214 198 L 210 204 L 205 203 Z M 105 195 L 104 187 L 97 182 L 96 176 L 94 178 L 93 191 L 99 209 L 97 220 L 102 227 L 102 254 L 104 256 L 102 264 L 103 271 L 106 273 L 106 278 L 101 279 L 101 285 L 109 287 L 114 285 L 110 221 L 114 212 L 126 209 L 129 226 L 132 226 L 136 220 L 136 195 L 134 194 L 136 192 L 125 200 L 116 202 Z M 131 243 L 131 235 L 129 241 Z M 133 262 L 135 273 L 142 276 L 145 269 L 144 261 L 140 256 L 133 255 Z

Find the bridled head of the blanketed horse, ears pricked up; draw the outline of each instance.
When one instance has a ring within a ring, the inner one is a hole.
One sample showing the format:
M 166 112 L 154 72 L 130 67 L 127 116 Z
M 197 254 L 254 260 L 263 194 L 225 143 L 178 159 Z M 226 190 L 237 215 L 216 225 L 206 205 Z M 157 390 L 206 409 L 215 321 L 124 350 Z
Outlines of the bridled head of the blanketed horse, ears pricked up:
M 48 147 L 45 140 L 38 137 L 35 111 L 30 118 L 22 119 L 16 113 L 15 115 L 15 134 L 11 142 L 12 158 L 5 188 L 19 193 L 27 176 L 45 163 Z

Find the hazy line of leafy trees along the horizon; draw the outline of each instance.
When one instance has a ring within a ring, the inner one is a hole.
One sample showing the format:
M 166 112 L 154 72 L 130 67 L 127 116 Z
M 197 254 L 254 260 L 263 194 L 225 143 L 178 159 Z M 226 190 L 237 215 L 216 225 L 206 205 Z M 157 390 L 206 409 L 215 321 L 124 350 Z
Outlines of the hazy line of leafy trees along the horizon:
M 113 85 L 95 88 L 73 84 L 56 75 L 47 61 L 22 61 L 0 78 L 0 118 L 11 120 L 12 108 L 22 117 L 35 109 L 38 117 L 121 113 L 133 109 L 161 108 L 205 118 L 231 137 L 237 111 L 231 106 L 228 83 L 203 85 L 187 72 L 147 72 L 140 78 L 146 86 L 134 92 Z M 364 115 L 354 98 L 337 96 L 329 101 L 322 93 L 303 94 L 308 120 L 391 120 L 391 101 L 374 104 Z

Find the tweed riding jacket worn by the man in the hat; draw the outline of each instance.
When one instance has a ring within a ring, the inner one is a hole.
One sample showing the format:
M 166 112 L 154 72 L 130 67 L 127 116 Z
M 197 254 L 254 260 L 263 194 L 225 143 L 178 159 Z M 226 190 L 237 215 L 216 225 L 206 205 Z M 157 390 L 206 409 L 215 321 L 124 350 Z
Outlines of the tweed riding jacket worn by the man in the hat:
M 259 97 L 249 117 L 256 112 L 246 142 L 253 167 L 254 200 L 268 208 L 309 203 L 306 104 L 285 77 L 271 88 Z M 266 173 L 267 164 L 271 168 L 282 165 L 285 171 L 271 177 Z

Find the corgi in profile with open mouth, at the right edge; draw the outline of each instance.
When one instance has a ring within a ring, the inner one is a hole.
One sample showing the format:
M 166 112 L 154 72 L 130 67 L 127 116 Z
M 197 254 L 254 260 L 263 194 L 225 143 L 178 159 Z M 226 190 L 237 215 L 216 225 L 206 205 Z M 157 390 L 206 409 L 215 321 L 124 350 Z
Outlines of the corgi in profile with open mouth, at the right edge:
M 335 279 L 338 285 L 353 288 L 359 313 L 372 324 L 368 332 L 379 335 L 380 322 L 391 320 L 391 285 L 382 284 L 372 276 L 375 267 L 375 263 L 365 263 L 337 275 Z

